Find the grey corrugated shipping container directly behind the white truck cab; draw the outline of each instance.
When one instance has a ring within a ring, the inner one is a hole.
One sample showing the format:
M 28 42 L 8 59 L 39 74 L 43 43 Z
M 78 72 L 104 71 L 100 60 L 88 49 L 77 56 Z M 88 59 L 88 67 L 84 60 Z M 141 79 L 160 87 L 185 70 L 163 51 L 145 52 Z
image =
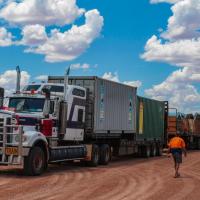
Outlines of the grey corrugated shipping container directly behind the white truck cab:
M 49 83 L 64 83 L 64 77 L 49 77 Z M 136 133 L 137 88 L 96 76 L 69 77 L 70 85 L 87 89 L 86 134 L 95 137 Z

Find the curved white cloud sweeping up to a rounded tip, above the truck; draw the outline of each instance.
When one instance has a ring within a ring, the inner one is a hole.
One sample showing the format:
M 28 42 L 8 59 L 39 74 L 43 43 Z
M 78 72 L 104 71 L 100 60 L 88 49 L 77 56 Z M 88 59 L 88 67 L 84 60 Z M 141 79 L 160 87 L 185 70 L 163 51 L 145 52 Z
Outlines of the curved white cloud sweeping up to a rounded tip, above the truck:
M 51 31 L 50 37 L 37 48 L 29 48 L 26 52 L 45 55 L 47 62 L 73 60 L 82 54 L 96 39 L 103 26 L 103 17 L 98 10 L 85 13 L 86 22 L 82 26 L 72 26 L 64 33 L 58 29 Z

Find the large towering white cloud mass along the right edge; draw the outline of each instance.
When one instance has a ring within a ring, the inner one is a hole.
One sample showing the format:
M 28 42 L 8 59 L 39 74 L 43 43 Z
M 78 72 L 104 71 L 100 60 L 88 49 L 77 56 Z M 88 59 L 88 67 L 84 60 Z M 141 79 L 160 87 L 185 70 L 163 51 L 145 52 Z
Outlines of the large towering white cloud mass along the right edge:
M 180 111 L 200 111 L 200 94 L 195 83 L 200 82 L 200 1 L 180 0 L 172 5 L 167 30 L 153 35 L 141 57 L 146 61 L 165 62 L 179 67 L 166 80 L 145 93 L 158 100 L 169 100 Z

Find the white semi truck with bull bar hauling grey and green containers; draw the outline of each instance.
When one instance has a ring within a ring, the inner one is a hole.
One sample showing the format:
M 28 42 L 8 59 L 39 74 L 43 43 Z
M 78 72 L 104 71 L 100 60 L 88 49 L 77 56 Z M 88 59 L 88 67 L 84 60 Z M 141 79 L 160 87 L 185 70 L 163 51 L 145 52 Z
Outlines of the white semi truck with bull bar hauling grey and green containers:
M 17 87 L 1 107 L 0 165 L 23 165 L 26 174 L 40 175 L 49 163 L 80 160 L 97 166 L 112 156 L 161 154 L 164 102 L 137 97 L 137 88 L 99 77 L 48 82 L 63 86 L 63 92 Z

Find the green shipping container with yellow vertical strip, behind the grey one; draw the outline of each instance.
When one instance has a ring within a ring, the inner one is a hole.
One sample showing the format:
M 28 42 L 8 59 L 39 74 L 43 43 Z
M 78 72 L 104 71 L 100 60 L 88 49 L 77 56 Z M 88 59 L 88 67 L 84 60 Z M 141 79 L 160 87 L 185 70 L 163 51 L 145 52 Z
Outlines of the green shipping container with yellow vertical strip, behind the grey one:
M 164 113 L 164 102 L 138 96 L 136 140 L 164 142 Z

